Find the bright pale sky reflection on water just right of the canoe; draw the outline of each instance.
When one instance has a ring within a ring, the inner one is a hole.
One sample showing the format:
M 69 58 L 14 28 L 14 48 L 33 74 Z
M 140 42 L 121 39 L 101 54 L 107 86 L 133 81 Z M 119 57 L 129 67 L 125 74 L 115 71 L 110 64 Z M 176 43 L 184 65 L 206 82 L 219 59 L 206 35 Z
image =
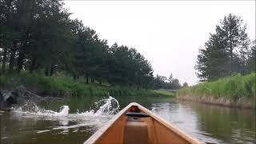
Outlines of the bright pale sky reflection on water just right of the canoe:
M 220 143 L 221 141 L 210 137 L 211 134 L 200 130 L 201 123 L 198 122 L 198 114 L 190 107 L 182 103 L 154 103 L 151 107 L 155 114 L 166 119 L 180 130 L 190 134 L 202 142 Z

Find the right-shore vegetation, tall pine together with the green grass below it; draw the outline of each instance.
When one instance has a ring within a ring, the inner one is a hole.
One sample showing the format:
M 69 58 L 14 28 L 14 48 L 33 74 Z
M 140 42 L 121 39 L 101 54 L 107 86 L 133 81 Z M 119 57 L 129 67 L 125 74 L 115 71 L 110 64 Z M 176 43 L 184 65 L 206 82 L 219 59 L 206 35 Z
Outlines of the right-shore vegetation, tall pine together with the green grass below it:
M 242 18 L 225 16 L 199 49 L 195 70 L 203 83 L 179 90 L 178 98 L 255 107 L 255 54 L 256 41 L 250 41 Z

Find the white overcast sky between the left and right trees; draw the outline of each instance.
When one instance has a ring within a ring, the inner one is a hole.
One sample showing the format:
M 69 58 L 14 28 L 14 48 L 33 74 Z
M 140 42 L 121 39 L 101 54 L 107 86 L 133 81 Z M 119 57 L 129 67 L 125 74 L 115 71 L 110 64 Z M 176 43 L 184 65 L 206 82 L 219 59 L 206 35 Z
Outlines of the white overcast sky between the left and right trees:
M 220 19 L 241 16 L 255 39 L 255 1 L 65 1 L 71 18 L 96 30 L 111 46 L 136 48 L 160 74 L 194 85 L 198 49 Z

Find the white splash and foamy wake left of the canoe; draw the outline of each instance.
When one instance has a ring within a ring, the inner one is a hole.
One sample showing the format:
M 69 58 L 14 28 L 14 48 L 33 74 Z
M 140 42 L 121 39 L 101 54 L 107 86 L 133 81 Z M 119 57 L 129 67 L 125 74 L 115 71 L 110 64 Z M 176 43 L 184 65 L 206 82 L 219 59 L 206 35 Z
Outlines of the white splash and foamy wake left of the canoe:
M 59 112 L 54 110 L 45 110 L 37 106 L 34 102 L 25 102 L 23 106 L 16 106 L 12 112 L 18 117 L 34 118 L 41 120 L 58 121 L 60 126 L 54 126 L 52 130 L 68 130 L 82 126 L 91 126 L 97 130 L 105 122 L 118 113 L 119 103 L 113 98 L 104 98 L 94 102 L 89 110 L 80 110 L 76 114 L 69 113 L 69 106 L 61 106 Z M 75 125 L 69 125 L 69 122 L 75 122 Z M 38 133 L 45 133 L 51 130 L 38 130 Z

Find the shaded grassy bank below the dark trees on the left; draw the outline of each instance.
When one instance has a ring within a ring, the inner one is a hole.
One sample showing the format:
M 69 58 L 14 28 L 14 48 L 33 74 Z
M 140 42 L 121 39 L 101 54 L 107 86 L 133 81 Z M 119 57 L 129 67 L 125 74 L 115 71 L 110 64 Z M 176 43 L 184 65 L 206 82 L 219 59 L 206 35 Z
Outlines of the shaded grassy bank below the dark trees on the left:
M 0 89 L 11 90 L 15 86 L 23 85 L 27 90 L 39 95 L 55 97 L 86 97 L 86 96 L 156 96 L 166 95 L 153 90 L 137 90 L 128 86 L 101 86 L 86 84 L 82 80 L 74 80 L 64 74 L 46 77 L 42 74 L 29 74 L 22 71 L 20 74 L 3 74 L 0 76 Z

